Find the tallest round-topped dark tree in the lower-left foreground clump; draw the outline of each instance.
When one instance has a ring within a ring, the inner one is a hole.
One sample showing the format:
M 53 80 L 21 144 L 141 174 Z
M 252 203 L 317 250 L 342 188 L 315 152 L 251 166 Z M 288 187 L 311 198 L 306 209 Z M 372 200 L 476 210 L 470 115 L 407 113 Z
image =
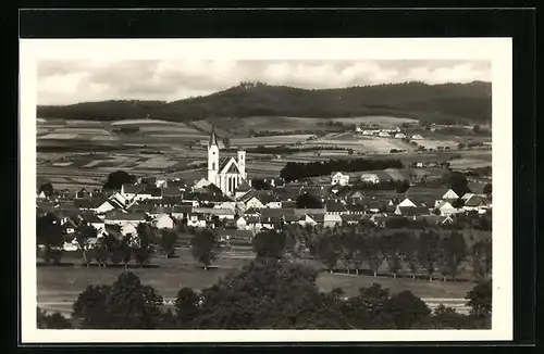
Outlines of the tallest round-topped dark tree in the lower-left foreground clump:
M 153 329 L 161 318 L 162 296 L 144 286 L 132 271 L 123 271 L 106 298 L 109 328 Z

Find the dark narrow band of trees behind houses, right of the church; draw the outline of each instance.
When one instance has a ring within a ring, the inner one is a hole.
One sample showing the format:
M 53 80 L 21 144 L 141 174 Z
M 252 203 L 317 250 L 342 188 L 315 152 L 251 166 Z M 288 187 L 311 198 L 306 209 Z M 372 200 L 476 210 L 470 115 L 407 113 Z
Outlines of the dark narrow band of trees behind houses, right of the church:
M 286 181 L 293 181 L 307 177 L 326 176 L 338 170 L 350 173 L 386 168 L 404 168 L 404 164 L 398 159 L 350 159 L 314 161 L 310 163 L 288 162 L 280 172 L 280 177 Z

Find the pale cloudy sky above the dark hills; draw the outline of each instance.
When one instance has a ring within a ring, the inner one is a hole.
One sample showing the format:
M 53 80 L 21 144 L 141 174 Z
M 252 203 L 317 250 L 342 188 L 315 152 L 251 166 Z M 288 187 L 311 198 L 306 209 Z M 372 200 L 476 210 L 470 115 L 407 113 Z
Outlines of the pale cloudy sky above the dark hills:
M 405 81 L 491 81 L 489 61 L 41 61 L 38 104 L 103 100 L 175 101 L 243 80 L 308 89 Z

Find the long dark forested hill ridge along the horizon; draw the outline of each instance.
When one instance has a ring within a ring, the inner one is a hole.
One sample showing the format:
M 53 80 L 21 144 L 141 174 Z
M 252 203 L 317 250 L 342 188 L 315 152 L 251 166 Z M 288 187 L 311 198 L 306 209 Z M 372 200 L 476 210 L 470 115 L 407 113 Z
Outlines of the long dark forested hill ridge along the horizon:
M 491 121 L 491 83 L 406 83 L 313 90 L 243 83 L 206 97 L 174 102 L 102 101 L 37 108 L 41 118 L 116 121 L 144 118 L 148 114 L 156 119 L 182 122 L 263 115 L 393 115 L 436 123 L 483 123 Z

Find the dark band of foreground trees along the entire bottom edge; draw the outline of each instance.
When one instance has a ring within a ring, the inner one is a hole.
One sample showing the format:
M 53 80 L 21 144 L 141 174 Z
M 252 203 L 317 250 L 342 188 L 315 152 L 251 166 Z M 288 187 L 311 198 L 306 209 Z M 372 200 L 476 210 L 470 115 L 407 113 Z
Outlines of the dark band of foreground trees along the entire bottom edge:
M 467 293 L 470 315 L 440 306 L 434 313 L 410 291 L 378 283 L 347 296 L 321 292 L 317 271 L 285 260 L 257 260 L 195 292 L 182 288 L 173 309 L 152 287 L 123 271 L 112 285 L 88 286 L 69 321 L 38 308 L 39 328 L 83 329 L 459 329 L 490 328 L 491 281 Z

